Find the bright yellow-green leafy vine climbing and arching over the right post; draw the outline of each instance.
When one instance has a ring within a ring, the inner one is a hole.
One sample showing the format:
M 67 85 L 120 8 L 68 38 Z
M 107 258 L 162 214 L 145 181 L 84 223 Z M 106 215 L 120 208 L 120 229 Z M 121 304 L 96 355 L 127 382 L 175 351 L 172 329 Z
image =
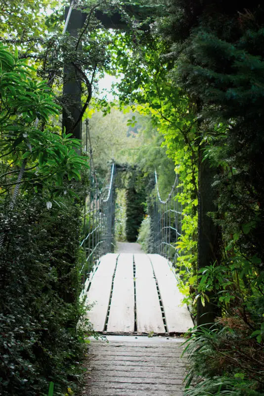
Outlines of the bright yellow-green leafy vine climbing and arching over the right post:
M 184 235 L 177 244 L 181 253 L 177 266 L 181 275 L 181 291 L 186 296 L 185 301 L 190 302 L 189 290 L 193 296 L 196 283 L 191 285 L 189 279 L 193 280 L 197 275 L 196 103 L 175 86 L 173 75 L 169 74 L 172 63 L 163 56 L 169 50 L 168 42 L 158 37 L 155 31 L 153 33 L 146 36 L 139 28 L 123 36 L 116 35 L 121 57 L 118 71 L 124 73 L 117 89 L 124 105 L 133 103 L 138 112 L 148 116 L 146 120 L 151 119 L 151 122 L 144 121 L 143 145 L 137 155 L 138 166 L 149 177 L 157 168 L 164 198 L 171 191 L 175 173 L 179 174 L 181 191 L 176 199 L 184 207 Z M 131 51 L 127 50 L 129 42 Z M 124 58 L 126 62 L 122 60 Z M 139 63 L 144 67 L 138 69 Z

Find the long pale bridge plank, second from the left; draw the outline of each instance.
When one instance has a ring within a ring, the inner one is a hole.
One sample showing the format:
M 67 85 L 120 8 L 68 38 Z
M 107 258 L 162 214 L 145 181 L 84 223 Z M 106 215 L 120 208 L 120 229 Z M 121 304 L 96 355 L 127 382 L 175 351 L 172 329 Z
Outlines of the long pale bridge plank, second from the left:
M 134 331 L 133 254 L 121 253 L 117 261 L 113 295 L 107 324 L 108 333 Z

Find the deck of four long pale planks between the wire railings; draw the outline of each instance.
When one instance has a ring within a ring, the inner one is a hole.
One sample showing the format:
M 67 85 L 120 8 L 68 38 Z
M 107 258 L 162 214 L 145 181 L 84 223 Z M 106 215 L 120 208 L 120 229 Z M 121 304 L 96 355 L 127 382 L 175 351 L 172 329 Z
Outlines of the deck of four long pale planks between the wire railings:
M 101 257 L 88 290 L 87 303 L 95 301 L 88 317 L 97 332 L 103 332 L 107 324 L 107 333 L 132 334 L 135 314 L 137 334 L 184 333 L 193 323 L 182 298 L 164 257 L 108 253 Z

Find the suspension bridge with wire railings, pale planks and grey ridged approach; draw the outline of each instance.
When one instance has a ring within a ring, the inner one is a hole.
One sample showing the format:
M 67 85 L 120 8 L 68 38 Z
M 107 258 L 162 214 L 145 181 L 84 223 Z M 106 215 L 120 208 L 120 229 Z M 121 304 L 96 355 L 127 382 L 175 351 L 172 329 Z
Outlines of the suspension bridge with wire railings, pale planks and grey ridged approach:
M 182 205 L 178 177 L 162 200 L 155 173 L 156 196 L 150 204 L 151 252 L 114 252 L 115 174 L 106 188 L 91 171 L 85 205 L 87 236 L 82 268 L 87 316 L 107 337 L 91 341 L 87 385 L 90 396 L 182 396 L 184 362 L 179 334 L 193 327 L 177 287 L 174 264 L 180 257 Z M 90 307 L 91 306 L 91 307 Z M 171 337 L 174 336 L 174 337 Z

